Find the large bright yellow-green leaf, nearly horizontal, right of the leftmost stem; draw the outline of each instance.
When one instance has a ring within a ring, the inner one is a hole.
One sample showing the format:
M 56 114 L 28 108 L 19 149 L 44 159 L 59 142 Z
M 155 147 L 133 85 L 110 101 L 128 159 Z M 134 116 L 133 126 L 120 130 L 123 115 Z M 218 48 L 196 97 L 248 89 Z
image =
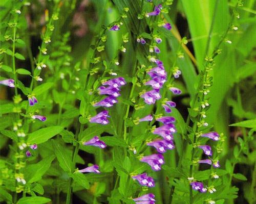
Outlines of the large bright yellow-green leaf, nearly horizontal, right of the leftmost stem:
M 28 136 L 27 142 L 29 144 L 40 144 L 44 143 L 55 135 L 59 134 L 63 130 L 61 126 L 51 126 L 39 129 Z

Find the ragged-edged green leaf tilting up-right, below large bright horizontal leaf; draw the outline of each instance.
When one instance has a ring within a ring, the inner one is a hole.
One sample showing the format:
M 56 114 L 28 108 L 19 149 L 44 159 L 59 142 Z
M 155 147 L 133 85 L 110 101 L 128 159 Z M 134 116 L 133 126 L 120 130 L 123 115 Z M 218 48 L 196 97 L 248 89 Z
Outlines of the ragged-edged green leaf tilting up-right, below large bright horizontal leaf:
M 37 164 L 31 164 L 28 166 L 28 172 L 31 172 L 29 184 L 37 182 L 45 174 L 45 172 L 50 168 L 52 161 L 54 160 L 55 155 L 47 157 L 46 159 L 41 160 Z

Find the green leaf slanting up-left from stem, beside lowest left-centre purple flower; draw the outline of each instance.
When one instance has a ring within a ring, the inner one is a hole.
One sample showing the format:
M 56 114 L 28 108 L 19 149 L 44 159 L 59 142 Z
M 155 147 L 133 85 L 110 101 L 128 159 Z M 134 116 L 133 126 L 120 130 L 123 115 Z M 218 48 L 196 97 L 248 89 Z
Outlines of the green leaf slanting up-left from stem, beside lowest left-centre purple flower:
M 71 158 L 72 155 L 69 154 L 69 151 L 65 147 L 63 147 L 61 144 L 56 142 L 55 140 L 52 140 L 55 146 L 55 155 L 57 157 L 57 160 L 59 162 L 59 166 L 64 170 L 71 172 Z

